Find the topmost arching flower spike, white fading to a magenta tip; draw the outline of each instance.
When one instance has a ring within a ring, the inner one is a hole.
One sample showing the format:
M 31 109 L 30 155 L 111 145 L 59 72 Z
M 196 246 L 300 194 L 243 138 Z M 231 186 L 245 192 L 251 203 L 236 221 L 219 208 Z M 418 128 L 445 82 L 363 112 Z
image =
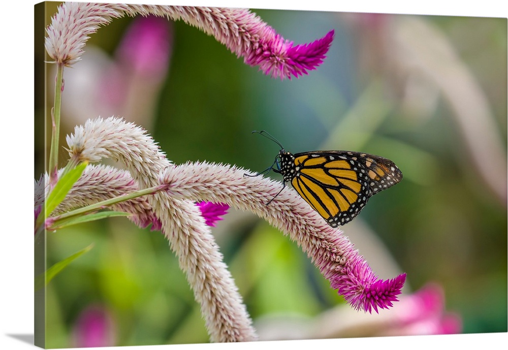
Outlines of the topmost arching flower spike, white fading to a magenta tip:
M 183 20 L 226 45 L 249 66 L 259 66 L 274 78 L 299 77 L 321 65 L 334 30 L 309 44 L 294 46 L 247 9 L 64 3 L 46 29 L 45 46 L 57 63 L 72 66 L 80 59 L 88 36 L 112 18 L 156 15 Z

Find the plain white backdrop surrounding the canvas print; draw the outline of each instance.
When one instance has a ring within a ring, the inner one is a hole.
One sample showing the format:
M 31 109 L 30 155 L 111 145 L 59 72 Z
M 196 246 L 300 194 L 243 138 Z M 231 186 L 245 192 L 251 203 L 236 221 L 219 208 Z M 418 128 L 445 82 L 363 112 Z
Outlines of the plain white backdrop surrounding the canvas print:
M 106 2 L 106 1 L 104 1 Z M 136 2 L 130 2 L 136 3 Z M 283 2 L 277 1 L 210 1 L 187 0 L 145 1 L 139 3 L 194 6 L 248 7 L 270 9 L 322 10 L 340 12 L 381 12 L 455 16 L 508 17 L 506 1 L 482 0 L 427 0 L 424 2 L 395 0 L 355 0 Z M 0 244 L 1 296 L 0 296 L 0 348 L 33 348 L 34 338 L 34 278 L 33 278 L 33 91 L 34 91 L 34 5 L 36 2 L 11 1 L 4 3 L 2 33 L 2 205 L 3 230 Z M 41 92 L 42 93 L 42 92 Z M 38 131 L 40 132 L 40 131 Z M 487 292 L 487 291 L 486 291 Z M 479 295 L 478 298 L 486 298 Z M 508 343 L 507 333 L 385 337 L 366 339 L 330 339 L 313 341 L 260 342 L 244 344 L 172 345 L 172 349 L 230 348 L 257 349 L 262 347 L 330 347 L 330 348 L 444 348 L 454 345 L 461 348 L 480 348 L 482 345 Z M 443 346 L 444 345 L 444 346 Z M 161 346 L 133 346 L 133 349 L 158 349 Z M 109 349 L 112 347 L 104 348 Z M 119 348 L 119 347 L 118 347 Z

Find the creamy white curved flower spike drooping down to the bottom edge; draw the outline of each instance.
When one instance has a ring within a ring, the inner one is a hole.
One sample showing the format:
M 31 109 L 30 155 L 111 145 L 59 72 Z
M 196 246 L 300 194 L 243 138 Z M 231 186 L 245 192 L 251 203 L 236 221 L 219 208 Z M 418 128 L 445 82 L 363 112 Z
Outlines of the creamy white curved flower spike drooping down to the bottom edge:
M 88 120 L 75 128 L 67 143 L 71 161 L 113 158 L 128 168 L 140 188 L 158 184 L 160 172 L 174 167 L 143 129 L 119 118 Z M 200 209 L 166 193 L 148 196 L 147 201 L 201 304 L 211 340 L 255 340 L 245 305 Z

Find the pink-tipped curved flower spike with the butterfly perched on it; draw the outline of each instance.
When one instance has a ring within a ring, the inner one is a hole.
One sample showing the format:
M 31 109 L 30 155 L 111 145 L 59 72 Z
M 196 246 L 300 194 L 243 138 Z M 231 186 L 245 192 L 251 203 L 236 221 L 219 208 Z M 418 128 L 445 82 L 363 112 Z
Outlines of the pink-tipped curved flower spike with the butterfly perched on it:
M 326 224 L 292 189 L 286 187 L 275 197 L 279 182 L 245 173 L 232 166 L 187 163 L 166 168 L 161 183 L 169 185 L 167 193 L 174 198 L 227 203 L 265 218 L 297 241 L 331 287 L 357 310 L 378 312 L 398 300 L 405 274 L 378 279 L 342 232 Z

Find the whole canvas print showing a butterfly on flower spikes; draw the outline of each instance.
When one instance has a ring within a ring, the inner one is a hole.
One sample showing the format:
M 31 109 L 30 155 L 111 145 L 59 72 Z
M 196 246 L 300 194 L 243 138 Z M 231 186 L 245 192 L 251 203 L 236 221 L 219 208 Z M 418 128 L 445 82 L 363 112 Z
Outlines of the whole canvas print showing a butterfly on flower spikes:
M 506 18 L 35 6 L 35 343 L 506 332 Z

